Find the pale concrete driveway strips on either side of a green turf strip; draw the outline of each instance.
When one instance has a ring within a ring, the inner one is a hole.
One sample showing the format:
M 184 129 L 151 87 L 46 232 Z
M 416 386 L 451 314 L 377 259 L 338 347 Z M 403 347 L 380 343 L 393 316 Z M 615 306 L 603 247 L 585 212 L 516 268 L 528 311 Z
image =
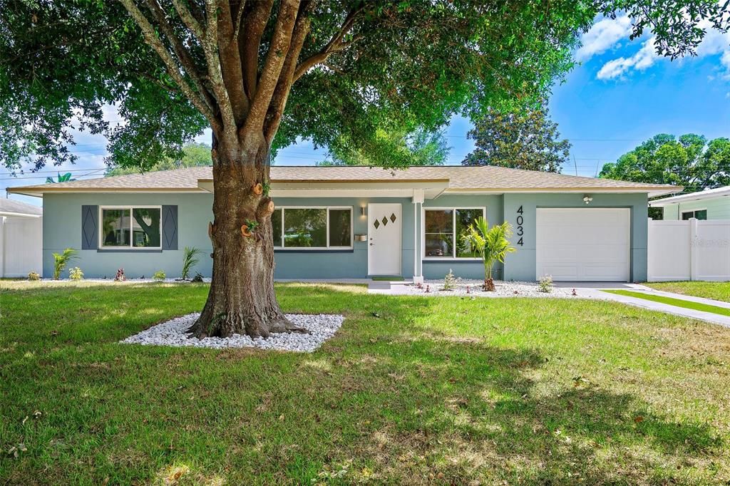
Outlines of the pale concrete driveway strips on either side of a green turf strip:
M 730 328 L 730 316 L 724 316 L 719 314 L 713 314 L 712 312 L 703 312 L 695 309 L 687 309 L 685 307 L 672 306 L 669 304 L 662 304 L 661 302 L 648 301 L 643 298 L 621 296 L 615 293 L 603 292 L 605 289 L 622 289 L 631 290 L 638 293 L 646 293 L 655 296 L 663 296 L 669 298 L 676 298 L 680 301 L 696 302 L 699 304 L 707 304 L 709 306 L 723 307 L 724 309 L 730 309 L 730 304 L 727 302 L 713 301 L 710 298 L 684 296 L 680 293 L 664 292 L 662 290 L 654 290 L 645 285 L 639 284 L 616 284 L 614 286 L 601 286 L 593 288 L 576 288 L 576 293 L 579 296 L 585 298 L 600 298 L 609 301 L 621 302 L 622 304 L 629 304 L 632 306 L 643 307 L 644 309 L 655 310 L 658 312 L 666 312 L 667 314 L 679 315 L 682 317 L 690 317 L 692 319 L 704 320 L 708 323 L 714 323 L 724 325 Z

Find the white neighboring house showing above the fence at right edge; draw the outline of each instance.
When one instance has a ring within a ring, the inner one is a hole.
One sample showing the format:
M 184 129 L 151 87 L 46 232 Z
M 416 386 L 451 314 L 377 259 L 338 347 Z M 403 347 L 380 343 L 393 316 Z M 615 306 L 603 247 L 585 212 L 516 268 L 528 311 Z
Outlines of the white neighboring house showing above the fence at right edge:
M 649 205 L 664 209 L 665 220 L 688 220 L 693 217 L 698 220 L 730 220 L 730 185 L 657 199 Z

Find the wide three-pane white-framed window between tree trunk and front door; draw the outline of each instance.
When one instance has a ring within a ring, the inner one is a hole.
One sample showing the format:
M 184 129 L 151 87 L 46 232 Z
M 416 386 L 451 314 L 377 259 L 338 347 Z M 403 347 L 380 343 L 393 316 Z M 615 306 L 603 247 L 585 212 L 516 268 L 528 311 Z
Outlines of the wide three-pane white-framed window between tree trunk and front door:
M 282 207 L 272 214 L 274 247 L 353 247 L 352 207 Z

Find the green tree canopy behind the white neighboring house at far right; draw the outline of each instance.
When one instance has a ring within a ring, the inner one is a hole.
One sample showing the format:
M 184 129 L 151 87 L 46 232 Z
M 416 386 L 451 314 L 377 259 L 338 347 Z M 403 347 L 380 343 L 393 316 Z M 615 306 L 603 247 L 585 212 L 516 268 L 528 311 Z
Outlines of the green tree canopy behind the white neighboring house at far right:
M 685 193 L 730 185 L 730 139 L 658 134 L 605 164 L 599 177 L 682 185 Z

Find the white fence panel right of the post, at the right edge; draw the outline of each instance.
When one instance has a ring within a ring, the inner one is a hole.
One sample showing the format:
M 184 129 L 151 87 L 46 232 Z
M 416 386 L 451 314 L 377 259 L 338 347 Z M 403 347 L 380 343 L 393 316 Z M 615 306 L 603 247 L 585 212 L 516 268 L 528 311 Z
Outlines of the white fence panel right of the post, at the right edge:
M 697 221 L 693 280 L 730 280 L 730 220 Z

